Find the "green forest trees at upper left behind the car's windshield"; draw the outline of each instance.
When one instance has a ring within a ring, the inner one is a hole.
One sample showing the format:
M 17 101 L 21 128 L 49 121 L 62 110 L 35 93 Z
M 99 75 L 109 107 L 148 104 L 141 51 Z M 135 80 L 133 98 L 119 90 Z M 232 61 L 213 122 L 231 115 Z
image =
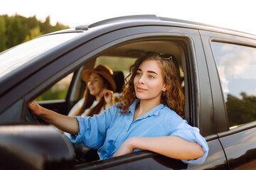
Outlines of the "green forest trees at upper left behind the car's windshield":
M 51 33 L 56 30 L 69 28 L 61 23 L 55 26 L 50 24 L 50 16 L 46 21 L 39 21 L 36 16 L 23 17 L 18 14 L 14 16 L 0 16 L 0 52 L 26 42 L 40 35 Z

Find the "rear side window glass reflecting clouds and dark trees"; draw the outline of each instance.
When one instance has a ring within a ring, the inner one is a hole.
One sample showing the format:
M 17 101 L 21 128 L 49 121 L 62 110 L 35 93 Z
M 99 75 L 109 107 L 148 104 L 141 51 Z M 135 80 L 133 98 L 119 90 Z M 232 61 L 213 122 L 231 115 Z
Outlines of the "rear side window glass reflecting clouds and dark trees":
M 256 120 L 256 48 L 212 42 L 230 128 Z

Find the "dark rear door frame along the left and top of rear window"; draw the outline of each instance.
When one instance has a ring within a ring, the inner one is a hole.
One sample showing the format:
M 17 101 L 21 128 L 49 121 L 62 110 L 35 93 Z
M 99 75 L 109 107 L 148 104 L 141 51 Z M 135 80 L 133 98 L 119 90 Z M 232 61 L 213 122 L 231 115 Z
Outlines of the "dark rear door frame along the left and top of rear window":
M 213 91 L 213 108 L 215 115 L 216 132 L 228 132 L 230 126 L 228 123 L 228 113 L 225 106 L 225 98 L 223 96 L 223 89 L 218 76 L 218 66 L 215 63 L 214 52 L 211 47 L 211 42 L 223 42 L 234 45 L 243 45 L 256 48 L 256 40 L 252 38 L 241 37 L 237 35 L 228 35 L 225 33 L 214 33 L 206 30 L 200 31 L 203 41 L 203 47 L 206 51 L 206 60 L 209 67 L 210 84 Z M 222 100 L 219 100 L 222 98 Z M 223 114 L 225 113 L 225 114 Z M 250 124 L 250 123 L 249 123 Z M 255 123 L 251 123 L 252 127 Z M 244 130 L 241 125 L 240 130 Z M 245 128 L 247 129 L 247 128 Z

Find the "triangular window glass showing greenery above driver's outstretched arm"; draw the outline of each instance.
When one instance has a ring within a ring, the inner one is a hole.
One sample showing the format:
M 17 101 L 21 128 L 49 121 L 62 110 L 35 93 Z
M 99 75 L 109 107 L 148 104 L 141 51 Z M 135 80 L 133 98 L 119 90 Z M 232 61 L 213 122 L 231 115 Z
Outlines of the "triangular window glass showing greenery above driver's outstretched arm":
M 61 79 L 54 84 L 50 89 L 45 91 L 41 96 L 38 96 L 35 101 L 48 101 L 48 100 L 59 100 L 65 99 L 68 94 L 68 87 L 72 80 L 73 73 L 68 74 L 67 77 Z

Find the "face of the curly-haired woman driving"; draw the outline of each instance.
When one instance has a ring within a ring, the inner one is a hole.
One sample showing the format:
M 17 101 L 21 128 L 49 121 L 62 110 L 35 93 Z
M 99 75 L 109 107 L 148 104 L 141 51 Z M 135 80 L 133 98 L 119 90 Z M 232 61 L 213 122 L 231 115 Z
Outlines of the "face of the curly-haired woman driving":
M 146 60 L 139 65 L 134 77 L 134 89 L 137 98 L 141 100 L 159 100 L 166 84 L 159 64 L 154 60 Z

